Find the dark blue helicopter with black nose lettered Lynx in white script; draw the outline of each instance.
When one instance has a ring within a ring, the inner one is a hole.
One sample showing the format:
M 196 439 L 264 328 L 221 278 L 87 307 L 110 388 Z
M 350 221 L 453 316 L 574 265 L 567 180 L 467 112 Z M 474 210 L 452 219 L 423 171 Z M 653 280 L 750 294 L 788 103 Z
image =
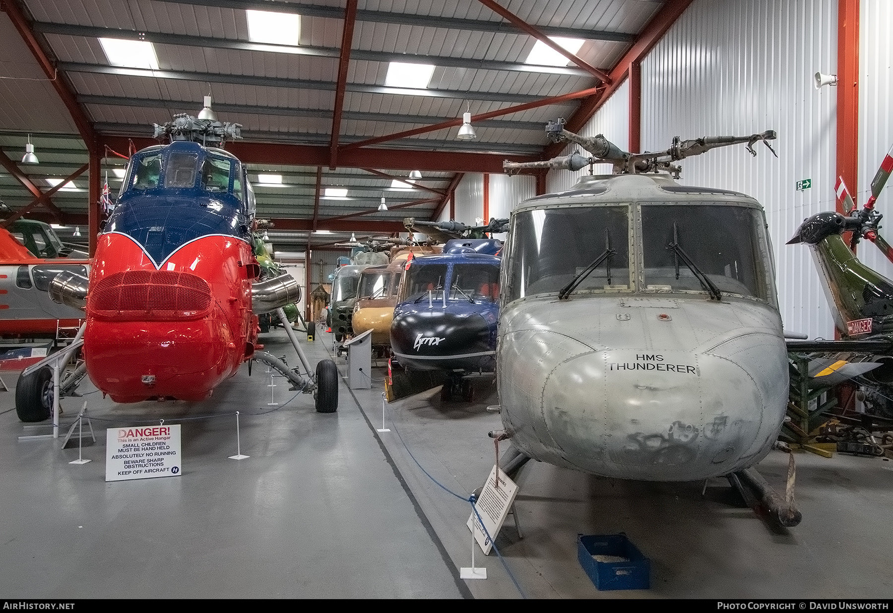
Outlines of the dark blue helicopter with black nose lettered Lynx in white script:
M 442 400 L 472 400 L 465 376 L 495 371 L 501 250 L 496 239 L 459 238 L 406 264 L 391 350 L 406 369 L 446 371 Z

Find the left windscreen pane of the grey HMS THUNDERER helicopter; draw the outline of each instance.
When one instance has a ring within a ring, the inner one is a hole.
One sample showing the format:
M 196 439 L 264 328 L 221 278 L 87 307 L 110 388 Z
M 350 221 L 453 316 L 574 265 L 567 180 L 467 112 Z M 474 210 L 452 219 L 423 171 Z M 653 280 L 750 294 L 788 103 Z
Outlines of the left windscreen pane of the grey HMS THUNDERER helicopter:
M 627 206 L 561 207 L 518 213 L 509 237 L 508 300 L 558 292 L 578 275 L 578 292 L 628 289 L 629 236 Z M 590 264 L 603 255 L 601 263 L 586 275 Z

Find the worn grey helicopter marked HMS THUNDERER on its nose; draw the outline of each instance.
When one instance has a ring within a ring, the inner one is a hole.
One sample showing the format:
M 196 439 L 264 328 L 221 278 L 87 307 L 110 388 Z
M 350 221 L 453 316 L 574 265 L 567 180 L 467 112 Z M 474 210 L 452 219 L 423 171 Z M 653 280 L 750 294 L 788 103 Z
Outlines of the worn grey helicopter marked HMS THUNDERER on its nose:
M 590 155 L 505 162 L 508 174 L 587 165 L 590 174 L 511 214 L 494 409 L 505 429 L 490 433 L 511 442 L 503 469 L 512 476 L 533 459 L 622 479 L 727 476 L 796 526 L 793 463 L 783 495 L 752 468 L 776 443 L 789 392 L 763 207 L 680 185 L 673 163 L 736 144 L 755 155 L 760 141 L 775 154 L 775 132 L 676 137 L 664 151 L 628 153 L 563 120 L 546 131 Z M 605 162 L 613 174 L 591 174 Z

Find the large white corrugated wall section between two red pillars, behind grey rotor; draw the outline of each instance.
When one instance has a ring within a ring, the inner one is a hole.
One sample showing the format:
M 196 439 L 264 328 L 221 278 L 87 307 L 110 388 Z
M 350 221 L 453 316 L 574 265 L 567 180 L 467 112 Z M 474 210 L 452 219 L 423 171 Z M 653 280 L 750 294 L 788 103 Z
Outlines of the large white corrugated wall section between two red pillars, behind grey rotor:
M 642 62 L 643 150 L 674 136 L 778 131 L 778 159 L 762 144 L 756 158 L 729 147 L 681 162 L 682 182 L 763 203 L 785 327 L 825 338 L 833 323 L 809 249 L 785 243 L 834 208 L 837 92 L 816 91 L 813 74 L 836 70 L 837 10 L 834 0 L 697 0 Z M 804 178 L 812 188 L 797 192 Z

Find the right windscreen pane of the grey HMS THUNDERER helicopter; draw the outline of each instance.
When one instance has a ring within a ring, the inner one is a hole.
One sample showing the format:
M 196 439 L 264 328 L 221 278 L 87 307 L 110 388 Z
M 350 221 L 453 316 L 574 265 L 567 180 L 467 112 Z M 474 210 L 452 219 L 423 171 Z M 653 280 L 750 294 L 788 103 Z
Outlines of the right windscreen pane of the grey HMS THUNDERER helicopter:
M 676 250 L 672 244 L 678 245 Z M 642 250 L 646 291 L 706 291 L 695 268 L 722 293 L 774 301 L 763 216 L 756 209 L 710 203 L 642 205 Z

